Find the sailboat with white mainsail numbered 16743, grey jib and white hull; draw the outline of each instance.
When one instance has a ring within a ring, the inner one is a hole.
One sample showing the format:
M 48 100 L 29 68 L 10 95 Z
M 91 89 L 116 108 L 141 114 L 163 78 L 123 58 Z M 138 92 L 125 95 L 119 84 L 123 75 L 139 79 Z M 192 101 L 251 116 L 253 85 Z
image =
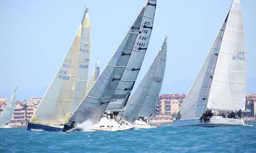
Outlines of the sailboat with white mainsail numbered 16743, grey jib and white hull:
M 217 37 L 181 105 L 173 127 L 243 126 L 240 118 L 213 116 L 200 122 L 206 110 L 245 110 L 246 55 L 239 0 L 233 0 Z

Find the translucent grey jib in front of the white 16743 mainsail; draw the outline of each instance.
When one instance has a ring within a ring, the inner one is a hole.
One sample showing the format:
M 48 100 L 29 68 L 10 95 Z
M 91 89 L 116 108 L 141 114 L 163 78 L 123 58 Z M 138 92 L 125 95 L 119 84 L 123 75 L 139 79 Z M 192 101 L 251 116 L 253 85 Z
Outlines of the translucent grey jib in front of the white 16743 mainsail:
M 229 14 L 227 14 L 228 17 Z M 207 100 L 212 85 L 212 78 L 222 43 L 223 33 L 227 24 L 227 17 L 222 24 L 217 37 L 203 63 L 197 77 L 188 92 L 183 104 L 176 115 L 179 119 L 194 119 L 201 117 L 206 110 Z

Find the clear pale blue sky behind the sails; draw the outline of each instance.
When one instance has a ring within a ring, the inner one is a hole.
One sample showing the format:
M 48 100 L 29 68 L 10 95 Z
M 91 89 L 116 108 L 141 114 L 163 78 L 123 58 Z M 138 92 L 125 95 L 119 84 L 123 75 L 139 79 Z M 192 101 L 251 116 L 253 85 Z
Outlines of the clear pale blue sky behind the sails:
M 146 0 L 3 0 L 0 5 L 0 96 L 42 97 L 89 8 L 90 73 L 116 51 Z M 240 0 L 246 43 L 246 92 L 256 92 L 256 0 Z M 161 93 L 188 93 L 232 0 L 158 0 L 136 84 L 168 36 Z M 136 86 L 135 84 L 135 86 Z

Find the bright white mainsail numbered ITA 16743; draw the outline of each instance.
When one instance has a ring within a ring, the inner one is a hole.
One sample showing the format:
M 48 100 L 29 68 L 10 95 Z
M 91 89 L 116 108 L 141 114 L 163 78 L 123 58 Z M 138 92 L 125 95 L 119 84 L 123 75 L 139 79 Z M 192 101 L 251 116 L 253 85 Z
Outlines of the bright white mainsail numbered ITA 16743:
M 234 0 L 227 18 L 207 108 L 245 110 L 246 58 L 244 26 L 239 0 Z

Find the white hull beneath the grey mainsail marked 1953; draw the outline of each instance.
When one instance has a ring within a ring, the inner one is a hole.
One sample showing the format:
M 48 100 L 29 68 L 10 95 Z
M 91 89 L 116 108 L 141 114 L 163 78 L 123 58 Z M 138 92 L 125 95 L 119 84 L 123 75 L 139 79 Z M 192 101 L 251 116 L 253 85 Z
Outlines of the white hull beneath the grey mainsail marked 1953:
M 108 119 L 102 116 L 98 124 L 94 124 L 91 129 L 102 130 L 102 131 L 118 131 L 118 130 L 129 130 L 134 129 L 133 125 L 125 120 L 117 121 L 115 119 Z

